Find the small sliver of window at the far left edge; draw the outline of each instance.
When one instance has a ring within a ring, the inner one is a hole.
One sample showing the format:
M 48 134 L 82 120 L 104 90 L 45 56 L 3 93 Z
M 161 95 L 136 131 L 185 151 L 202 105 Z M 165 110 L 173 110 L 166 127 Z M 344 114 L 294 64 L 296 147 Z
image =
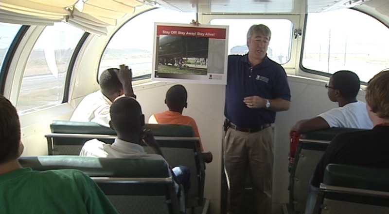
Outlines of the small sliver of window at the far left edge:
M 21 25 L 0 23 L 0 68 L 3 66 L 5 54 L 11 46 Z

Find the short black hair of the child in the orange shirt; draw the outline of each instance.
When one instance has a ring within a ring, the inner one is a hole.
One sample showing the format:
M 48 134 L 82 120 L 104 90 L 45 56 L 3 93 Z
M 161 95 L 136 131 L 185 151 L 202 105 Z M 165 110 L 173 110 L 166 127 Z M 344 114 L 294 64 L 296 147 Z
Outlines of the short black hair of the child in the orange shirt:
M 183 85 L 174 85 L 166 92 L 166 105 L 169 109 L 180 110 L 185 107 L 188 92 Z

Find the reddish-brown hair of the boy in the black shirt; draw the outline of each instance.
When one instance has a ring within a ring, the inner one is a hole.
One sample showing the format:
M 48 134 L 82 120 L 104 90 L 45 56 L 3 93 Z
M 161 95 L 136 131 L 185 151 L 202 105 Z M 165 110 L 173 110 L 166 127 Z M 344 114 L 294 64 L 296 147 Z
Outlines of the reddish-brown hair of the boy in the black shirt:
M 365 98 L 379 118 L 389 118 L 389 69 L 381 71 L 369 80 Z

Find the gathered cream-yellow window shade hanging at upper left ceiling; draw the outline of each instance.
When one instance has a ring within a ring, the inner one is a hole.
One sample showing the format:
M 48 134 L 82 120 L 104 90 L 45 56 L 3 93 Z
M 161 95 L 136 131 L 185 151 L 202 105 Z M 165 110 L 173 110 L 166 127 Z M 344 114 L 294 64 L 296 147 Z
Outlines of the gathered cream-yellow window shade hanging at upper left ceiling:
M 65 21 L 85 31 L 106 34 L 106 27 L 133 13 L 141 0 L 1 0 L 0 22 L 53 25 Z

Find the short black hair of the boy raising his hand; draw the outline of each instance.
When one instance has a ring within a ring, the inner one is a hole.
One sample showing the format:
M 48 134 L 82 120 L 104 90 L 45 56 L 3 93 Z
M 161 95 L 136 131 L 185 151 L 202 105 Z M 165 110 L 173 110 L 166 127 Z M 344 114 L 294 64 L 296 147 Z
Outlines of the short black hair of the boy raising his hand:
M 108 68 L 100 75 L 99 85 L 101 92 L 106 96 L 110 96 L 123 89 L 123 85 L 115 73 L 116 70 L 118 68 Z

